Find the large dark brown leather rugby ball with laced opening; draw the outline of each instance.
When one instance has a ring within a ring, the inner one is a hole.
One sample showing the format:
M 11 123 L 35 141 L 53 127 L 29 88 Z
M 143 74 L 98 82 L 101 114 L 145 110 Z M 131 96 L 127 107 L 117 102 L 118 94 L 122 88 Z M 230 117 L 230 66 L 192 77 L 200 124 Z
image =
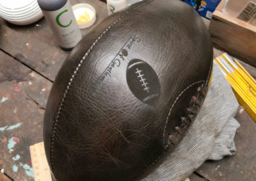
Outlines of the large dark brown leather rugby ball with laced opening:
M 56 179 L 147 175 L 177 144 L 169 136 L 184 136 L 175 126 L 188 129 L 180 119 L 189 117 L 186 108 L 198 112 L 191 98 L 204 99 L 196 89 L 205 89 L 211 62 L 207 29 L 181 1 L 142 1 L 106 18 L 72 50 L 52 86 L 44 144 Z M 137 68 L 142 78 L 128 85 Z M 159 95 L 143 101 L 145 86 Z

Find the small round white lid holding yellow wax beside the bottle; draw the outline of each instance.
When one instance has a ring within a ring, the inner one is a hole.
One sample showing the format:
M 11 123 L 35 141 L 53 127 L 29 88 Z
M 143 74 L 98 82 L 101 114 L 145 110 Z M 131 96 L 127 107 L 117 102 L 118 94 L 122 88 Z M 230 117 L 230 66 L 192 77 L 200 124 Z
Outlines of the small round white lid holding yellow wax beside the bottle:
M 72 6 L 79 29 L 90 27 L 95 23 L 96 11 L 90 4 L 79 3 Z

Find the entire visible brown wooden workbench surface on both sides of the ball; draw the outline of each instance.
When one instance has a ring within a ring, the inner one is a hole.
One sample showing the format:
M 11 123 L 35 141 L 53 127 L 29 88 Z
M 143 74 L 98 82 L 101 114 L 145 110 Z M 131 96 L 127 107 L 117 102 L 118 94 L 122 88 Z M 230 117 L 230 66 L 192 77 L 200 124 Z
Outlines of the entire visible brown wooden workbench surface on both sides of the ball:
M 102 1 L 71 2 L 92 4 L 97 11 L 95 25 L 108 16 Z M 90 29 L 84 29 L 83 35 Z M 29 145 L 43 141 L 47 97 L 67 55 L 54 41 L 44 18 L 26 26 L 0 18 L 0 169 L 13 180 L 33 180 Z M 246 68 L 256 76 L 253 68 Z M 236 118 L 241 124 L 236 156 L 204 163 L 190 180 L 256 180 L 256 123 L 241 108 Z

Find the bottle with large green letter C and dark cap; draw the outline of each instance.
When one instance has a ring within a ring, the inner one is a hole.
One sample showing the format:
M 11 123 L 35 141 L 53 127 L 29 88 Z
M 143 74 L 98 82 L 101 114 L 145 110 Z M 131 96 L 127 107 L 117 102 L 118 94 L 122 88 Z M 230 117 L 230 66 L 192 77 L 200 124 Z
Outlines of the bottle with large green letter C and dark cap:
M 44 17 L 63 50 L 72 50 L 82 39 L 69 0 L 37 0 Z

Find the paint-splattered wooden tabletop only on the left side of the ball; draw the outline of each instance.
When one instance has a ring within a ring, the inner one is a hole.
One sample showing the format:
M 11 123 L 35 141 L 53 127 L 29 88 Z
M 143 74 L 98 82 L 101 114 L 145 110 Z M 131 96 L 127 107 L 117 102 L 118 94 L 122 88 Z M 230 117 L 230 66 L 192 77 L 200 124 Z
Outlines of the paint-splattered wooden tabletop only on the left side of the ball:
M 102 1 L 71 3 L 89 3 L 97 11 L 97 21 L 83 35 L 108 16 Z M 43 141 L 47 97 L 67 55 L 44 18 L 26 26 L 0 19 L 0 169 L 13 180 L 34 180 L 29 145 Z

